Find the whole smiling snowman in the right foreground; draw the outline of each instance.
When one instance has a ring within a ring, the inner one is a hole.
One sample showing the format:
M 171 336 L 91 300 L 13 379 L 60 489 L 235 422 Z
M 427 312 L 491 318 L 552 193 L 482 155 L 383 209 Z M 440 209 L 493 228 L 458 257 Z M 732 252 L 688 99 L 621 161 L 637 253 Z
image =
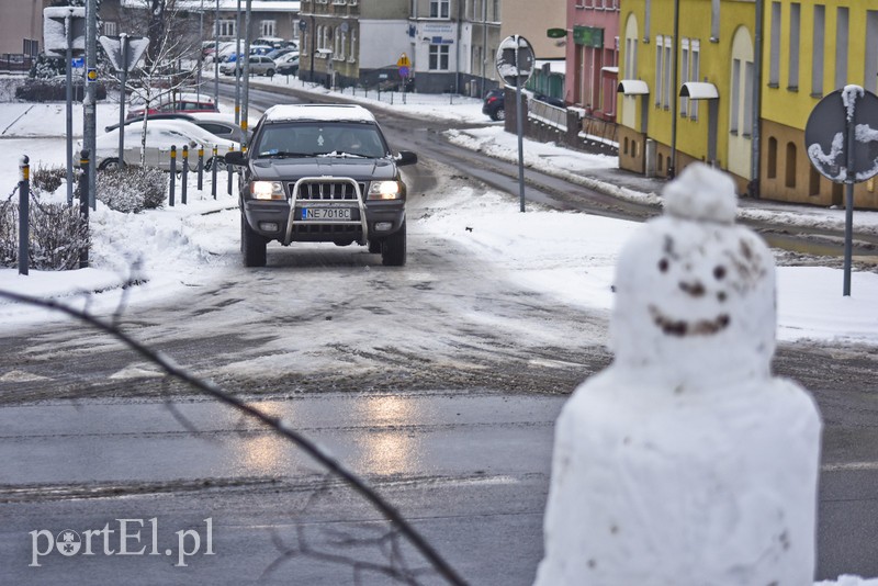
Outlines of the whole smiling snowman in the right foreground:
M 555 427 L 537 586 L 813 584 L 821 421 L 772 376 L 775 268 L 688 166 L 619 256 L 615 359 Z

